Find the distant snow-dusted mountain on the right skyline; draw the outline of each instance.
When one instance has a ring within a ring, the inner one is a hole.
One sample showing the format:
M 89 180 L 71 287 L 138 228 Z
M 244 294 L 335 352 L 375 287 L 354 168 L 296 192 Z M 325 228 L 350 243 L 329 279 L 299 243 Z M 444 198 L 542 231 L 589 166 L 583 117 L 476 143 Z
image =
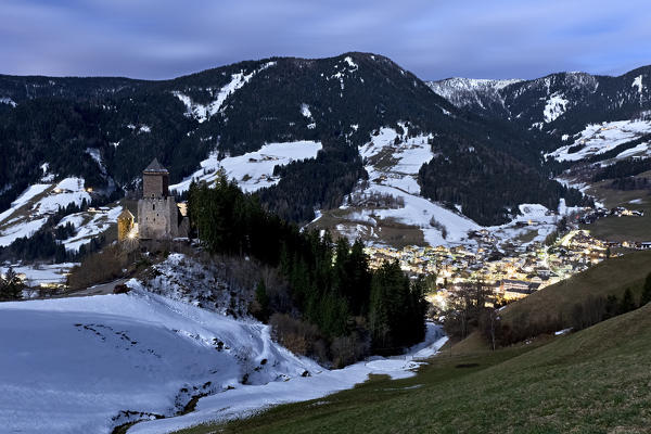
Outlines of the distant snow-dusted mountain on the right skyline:
M 617 77 L 558 73 L 533 80 L 430 81 L 434 92 L 458 107 L 536 128 L 560 139 L 588 124 L 648 116 L 651 66 Z

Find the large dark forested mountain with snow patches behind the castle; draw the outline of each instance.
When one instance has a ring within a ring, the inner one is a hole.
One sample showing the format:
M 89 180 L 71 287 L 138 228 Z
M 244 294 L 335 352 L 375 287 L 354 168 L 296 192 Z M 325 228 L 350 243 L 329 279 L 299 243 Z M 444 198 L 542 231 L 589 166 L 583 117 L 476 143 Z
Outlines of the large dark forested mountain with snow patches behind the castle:
M 394 142 L 370 146 L 383 129 L 395 131 Z M 436 205 L 434 220 L 443 209 L 499 225 L 522 203 L 554 210 L 561 197 L 582 202 L 549 179 L 536 131 L 459 110 L 390 59 L 355 52 L 246 61 L 161 81 L 0 76 L 0 209 L 30 186 L 72 178 L 97 204 L 108 202 L 138 189 L 157 157 L 175 186 L 229 168 L 269 209 L 303 224 L 360 191 L 376 161 L 362 148 L 386 154 L 417 137 L 427 153 L 392 177 L 418 186 L 407 193 Z

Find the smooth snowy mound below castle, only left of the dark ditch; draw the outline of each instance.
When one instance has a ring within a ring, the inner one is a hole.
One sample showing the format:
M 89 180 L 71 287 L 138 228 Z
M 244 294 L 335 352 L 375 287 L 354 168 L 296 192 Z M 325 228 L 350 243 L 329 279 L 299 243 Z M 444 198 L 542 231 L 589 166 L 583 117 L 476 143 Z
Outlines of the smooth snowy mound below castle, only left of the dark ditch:
M 272 343 L 267 326 L 144 291 L 2 303 L 0 311 L 0 425 L 9 432 L 108 433 L 120 411 L 170 416 L 181 388 L 238 386 L 247 363 L 263 359 L 266 381 L 321 369 Z

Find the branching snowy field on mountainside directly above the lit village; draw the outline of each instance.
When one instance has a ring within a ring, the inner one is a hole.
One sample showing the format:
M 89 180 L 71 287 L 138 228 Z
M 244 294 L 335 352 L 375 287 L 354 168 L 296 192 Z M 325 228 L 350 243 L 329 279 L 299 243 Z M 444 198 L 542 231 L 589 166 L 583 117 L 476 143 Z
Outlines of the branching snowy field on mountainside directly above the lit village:
M 522 204 L 519 206 L 520 215 L 510 222 L 484 228 L 460 212 L 420 195 L 418 171 L 434 157 L 429 140 L 435 138 L 432 135 L 409 138 L 408 128 L 404 124 L 400 127 L 405 130 L 403 136 L 394 128 L 381 128 L 359 151 L 366 162 L 369 182 L 360 182 L 350 195 L 353 203 L 346 201 L 337 212 L 342 222 L 336 225 L 336 230 L 350 240 L 363 235 L 368 243 L 382 245 L 382 224 L 379 220 L 392 220 L 418 228 L 424 241 L 433 246 L 463 244 L 473 248 L 476 242 L 470 239 L 469 231 L 486 229 L 498 242 L 528 234 L 531 241 L 519 242 L 526 247 L 531 242 L 544 241 L 556 229 L 560 215 L 575 210 L 567 209 L 564 202 L 557 210 L 537 204 Z M 378 193 L 401 202 L 392 208 L 372 207 L 367 203 L 360 208 L 355 203 Z

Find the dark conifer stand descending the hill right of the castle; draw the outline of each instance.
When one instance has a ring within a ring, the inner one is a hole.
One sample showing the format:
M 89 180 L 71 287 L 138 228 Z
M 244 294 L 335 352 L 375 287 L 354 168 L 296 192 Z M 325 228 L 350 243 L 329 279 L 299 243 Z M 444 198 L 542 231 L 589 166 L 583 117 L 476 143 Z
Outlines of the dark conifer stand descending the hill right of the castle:
M 290 349 L 301 342 L 296 345 L 304 353 L 343 366 L 423 339 L 423 282 L 412 282 L 397 263 L 371 270 L 360 241 L 350 245 L 327 232 L 302 231 L 267 212 L 256 195 L 243 193 L 224 174 L 214 186 L 190 187 L 188 212 L 209 253 L 253 256 L 280 270 L 290 303 L 260 282 L 253 312 L 271 321 Z

